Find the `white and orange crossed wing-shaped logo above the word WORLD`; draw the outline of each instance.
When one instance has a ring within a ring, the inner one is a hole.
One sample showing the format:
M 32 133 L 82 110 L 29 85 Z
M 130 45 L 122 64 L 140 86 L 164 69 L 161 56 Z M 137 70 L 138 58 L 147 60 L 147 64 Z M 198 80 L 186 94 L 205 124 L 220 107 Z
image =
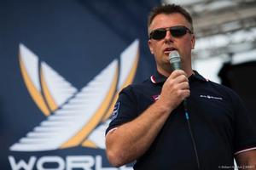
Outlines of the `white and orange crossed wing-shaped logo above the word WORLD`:
M 22 77 L 46 119 L 10 150 L 57 150 L 78 145 L 104 149 L 104 132 L 119 90 L 132 82 L 137 70 L 138 44 L 138 40 L 132 42 L 120 54 L 120 62 L 114 59 L 82 89 L 73 87 L 20 44 Z

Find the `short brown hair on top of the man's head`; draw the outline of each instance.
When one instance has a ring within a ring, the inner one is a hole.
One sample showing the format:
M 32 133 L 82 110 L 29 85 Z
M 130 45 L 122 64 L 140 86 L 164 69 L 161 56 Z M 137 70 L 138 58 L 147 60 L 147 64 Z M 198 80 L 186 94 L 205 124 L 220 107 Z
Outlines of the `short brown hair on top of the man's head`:
M 172 4 L 162 4 L 160 6 L 154 7 L 151 12 L 148 14 L 148 27 L 151 25 L 152 21 L 154 20 L 154 17 L 158 14 L 173 14 L 178 13 L 182 14 L 186 20 L 189 21 L 189 24 L 191 25 L 191 31 L 194 31 L 193 28 L 193 20 L 189 12 L 181 7 L 180 5 L 176 5 L 174 3 Z

